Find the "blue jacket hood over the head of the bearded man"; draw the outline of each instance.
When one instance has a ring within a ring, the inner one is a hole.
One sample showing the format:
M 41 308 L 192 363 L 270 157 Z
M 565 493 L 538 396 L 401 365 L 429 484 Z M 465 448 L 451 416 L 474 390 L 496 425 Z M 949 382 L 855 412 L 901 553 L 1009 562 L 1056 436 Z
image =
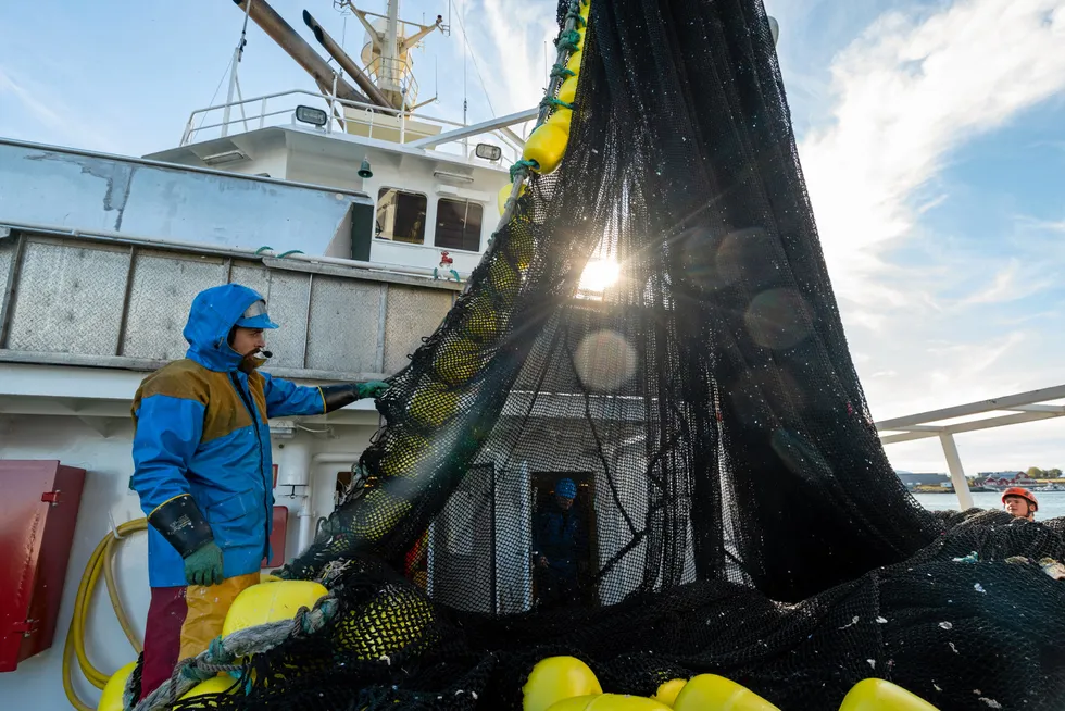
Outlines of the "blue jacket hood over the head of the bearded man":
M 196 295 L 183 332 L 189 342 L 186 358 L 212 371 L 237 370 L 242 359 L 229 348 L 229 332 L 245 310 L 262 299 L 258 291 L 239 284 L 224 284 Z

